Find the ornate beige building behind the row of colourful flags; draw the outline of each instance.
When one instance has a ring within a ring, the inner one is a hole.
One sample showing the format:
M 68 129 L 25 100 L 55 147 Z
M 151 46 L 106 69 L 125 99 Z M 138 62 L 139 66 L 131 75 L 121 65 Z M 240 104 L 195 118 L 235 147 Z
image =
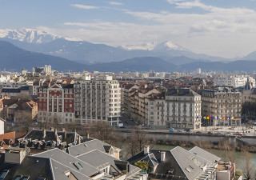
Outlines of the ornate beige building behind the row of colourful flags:
M 239 126 L 242 95 L 230 88 L 202 91 L 202 126 Z

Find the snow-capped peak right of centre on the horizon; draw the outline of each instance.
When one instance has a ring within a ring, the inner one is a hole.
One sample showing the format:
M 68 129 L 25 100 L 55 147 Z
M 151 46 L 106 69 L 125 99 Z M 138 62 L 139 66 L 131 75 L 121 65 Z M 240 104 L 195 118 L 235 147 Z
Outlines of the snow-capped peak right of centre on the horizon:
M 147 42 L 142 45 L 126 45 L 122 46 L 126 50 L 186 50 L 182 46 L 178 46 L 171 41 L 166 42 Z

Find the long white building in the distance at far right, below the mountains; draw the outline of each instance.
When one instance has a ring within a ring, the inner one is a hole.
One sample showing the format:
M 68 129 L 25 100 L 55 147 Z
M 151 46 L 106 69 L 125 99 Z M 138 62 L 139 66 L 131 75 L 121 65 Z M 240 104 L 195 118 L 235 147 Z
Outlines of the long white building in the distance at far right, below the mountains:
M 252 86 L 255 86 L 255 79 L 247 75 L 230 75 L 222 74 L 214 78 L 214 86 L 230 86 L 241 87 L 245 86 L 247 79 L 251 82 Z

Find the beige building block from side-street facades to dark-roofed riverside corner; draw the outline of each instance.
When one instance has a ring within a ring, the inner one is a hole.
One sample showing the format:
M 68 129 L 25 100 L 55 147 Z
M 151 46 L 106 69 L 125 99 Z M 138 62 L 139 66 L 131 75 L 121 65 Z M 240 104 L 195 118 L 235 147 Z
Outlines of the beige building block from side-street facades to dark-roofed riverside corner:
M 190 89 L 130 90 L 125 113 L 141 124 L 152 127 L 198 129 L 201 127 L 201 96 Z

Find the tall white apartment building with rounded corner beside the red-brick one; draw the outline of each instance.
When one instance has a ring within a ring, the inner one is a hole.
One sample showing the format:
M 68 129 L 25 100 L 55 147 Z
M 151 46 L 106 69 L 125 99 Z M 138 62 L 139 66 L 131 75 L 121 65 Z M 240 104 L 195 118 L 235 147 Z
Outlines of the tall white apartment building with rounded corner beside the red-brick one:
M 112 126 L 119 123 L 121 88 L 112 76 L 91 79 L 89 75 L 74 81 L 74 112 L 77 122 L 90 124 L 108 121 Z

